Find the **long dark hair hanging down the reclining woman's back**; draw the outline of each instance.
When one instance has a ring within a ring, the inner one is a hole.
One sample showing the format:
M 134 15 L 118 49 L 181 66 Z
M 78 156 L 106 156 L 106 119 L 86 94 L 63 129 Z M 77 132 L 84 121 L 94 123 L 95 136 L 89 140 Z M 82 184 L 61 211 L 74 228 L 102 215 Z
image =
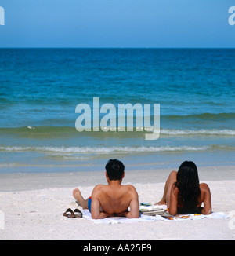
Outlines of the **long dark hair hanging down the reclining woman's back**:
M 179 166 L 175 187 L 178 193 L 178 213 L 194 214 L 198 212 L 198 198 L 201 194 L 197 166 L 193 162 L 185 161 Z

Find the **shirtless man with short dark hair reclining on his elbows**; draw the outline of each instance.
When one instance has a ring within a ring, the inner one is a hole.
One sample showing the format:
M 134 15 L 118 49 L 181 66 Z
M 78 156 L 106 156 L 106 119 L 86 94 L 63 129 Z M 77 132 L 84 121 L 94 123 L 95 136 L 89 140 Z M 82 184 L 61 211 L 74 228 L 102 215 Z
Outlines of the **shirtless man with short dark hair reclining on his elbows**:
M 96 185 L 92 196 L 88 199 L 84 199 L 80 190 L 75 188 L 74 199 L 83 209 L 89 209 L 94 219 L 113 216 L 139 218 L 139 199 L 136 188 L 132 185 L 121 185 L 125 177 L 123 163 L 117 159 L 110 159 L 105 168 L 108 185 Z

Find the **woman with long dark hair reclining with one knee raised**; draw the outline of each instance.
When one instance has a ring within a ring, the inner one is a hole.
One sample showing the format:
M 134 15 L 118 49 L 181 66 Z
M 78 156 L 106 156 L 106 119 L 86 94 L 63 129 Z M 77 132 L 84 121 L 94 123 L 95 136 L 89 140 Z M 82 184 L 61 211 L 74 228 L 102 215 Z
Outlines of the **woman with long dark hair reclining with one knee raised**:
M 204 203 L 204 208 L 201 207 Z M 211 192 L 206 183 L 199 184 L 197 166 L 185 161 L 179 170 L 172 171 L 164 186 L 164 194 L 157 204 L 166 204 L 169 213 L 211 214 Z

